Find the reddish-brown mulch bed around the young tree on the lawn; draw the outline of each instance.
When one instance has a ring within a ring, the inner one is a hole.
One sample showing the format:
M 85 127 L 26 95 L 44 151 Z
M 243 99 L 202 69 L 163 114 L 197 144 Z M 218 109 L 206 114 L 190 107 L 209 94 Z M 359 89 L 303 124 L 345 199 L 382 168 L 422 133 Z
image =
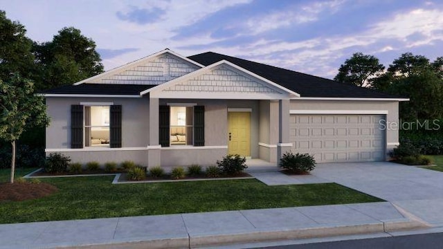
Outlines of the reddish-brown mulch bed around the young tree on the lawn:
M 57 190 L 57 187 L 48 183 L 0 183 L 0 201 L 37 199 Z

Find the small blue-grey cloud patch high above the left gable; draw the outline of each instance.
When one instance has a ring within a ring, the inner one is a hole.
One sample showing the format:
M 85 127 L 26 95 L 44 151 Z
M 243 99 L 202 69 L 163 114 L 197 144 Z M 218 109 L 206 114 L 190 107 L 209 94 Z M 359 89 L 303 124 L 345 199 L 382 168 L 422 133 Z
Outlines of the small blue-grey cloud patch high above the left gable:
M 165 10 L 158 7 L 147 9 L 136 6 L 130 6 L 130 10 L 127 12 L 116 12 L 118 19 L 136 24 L 150 24 L 159 21 L 164 14 Z

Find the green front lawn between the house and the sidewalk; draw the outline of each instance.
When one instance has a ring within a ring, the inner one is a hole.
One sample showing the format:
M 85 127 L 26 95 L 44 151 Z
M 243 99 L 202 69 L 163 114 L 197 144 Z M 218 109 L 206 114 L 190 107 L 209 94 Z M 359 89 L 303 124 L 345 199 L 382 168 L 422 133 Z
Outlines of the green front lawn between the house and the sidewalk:
M 113 178 L 42 179 L 59 191 L 42 199 L 0 202 L 0 223 L 382 201 L 335 183 L 266 186 L 247 179 L 112 185 Z

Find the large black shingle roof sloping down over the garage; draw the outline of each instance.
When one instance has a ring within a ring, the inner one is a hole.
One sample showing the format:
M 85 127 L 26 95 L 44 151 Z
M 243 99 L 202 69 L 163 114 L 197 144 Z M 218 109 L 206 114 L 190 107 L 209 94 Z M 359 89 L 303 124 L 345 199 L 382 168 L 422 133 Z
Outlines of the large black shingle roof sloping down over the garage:
M 301 97 L 311 98 L 400 98 L 398 96 L 381 93 L 359 86 L 343 84 L 314 75 L 298 73 L 296 71 L 251 62 L 246 59 L 230 57 L 218 53 L 207 52 L 188 57 L 199 64 L 208 66 L 226 59 L 237 66 L 260 75 L 286 89 L 299 93 Z

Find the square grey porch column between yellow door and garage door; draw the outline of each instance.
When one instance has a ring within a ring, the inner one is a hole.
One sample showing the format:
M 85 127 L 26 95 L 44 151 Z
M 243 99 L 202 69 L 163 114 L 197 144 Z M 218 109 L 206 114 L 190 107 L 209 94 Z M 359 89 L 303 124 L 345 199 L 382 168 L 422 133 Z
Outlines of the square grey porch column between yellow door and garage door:
M 289 100 L 279 100 L 277 163 L 280 163 L 282 155 L 291 147 L 292 144 L 289 142 Z

